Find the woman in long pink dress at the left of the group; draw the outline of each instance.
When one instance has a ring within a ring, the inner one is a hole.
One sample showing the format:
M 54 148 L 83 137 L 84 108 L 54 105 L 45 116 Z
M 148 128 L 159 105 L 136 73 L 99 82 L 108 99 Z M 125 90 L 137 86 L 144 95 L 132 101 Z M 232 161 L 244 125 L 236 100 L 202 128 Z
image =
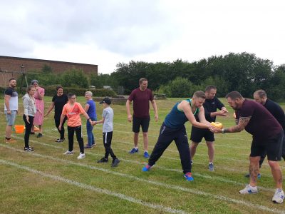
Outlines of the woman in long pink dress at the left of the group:
M 34 95 L 34 98 L 36 100 L 36 115 L 35 118 L 33 119 L 33 127 L 31 129 L 31 134 L 34 134 L 34 126 L 38 126 L 39 133 L 37 138 L 41 138 L 43 136 L 43 110 L 44 110 L 44 103 L 43 103 L 43 96 L 44 96 L 44 89 L 38 86 L 38 81 L 37 80 L 32 80 L 31 85 L 35 86 L 36 88 L 36 93 Z

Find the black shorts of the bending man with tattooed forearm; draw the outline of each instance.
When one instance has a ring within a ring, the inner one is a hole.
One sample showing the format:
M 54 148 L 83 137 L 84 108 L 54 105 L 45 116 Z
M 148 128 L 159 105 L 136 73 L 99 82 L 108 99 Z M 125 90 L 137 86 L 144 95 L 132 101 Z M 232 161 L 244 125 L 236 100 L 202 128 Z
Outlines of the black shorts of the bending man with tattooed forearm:
M 251 157 L 262 156 L 267 153 L 267 159 L 269 161 L 280 161 L 283 144 L 283 131 L 281 133 L 271 136 L 264 140 L 257 140 L 253 138 L 252 148 L 250 152 Z

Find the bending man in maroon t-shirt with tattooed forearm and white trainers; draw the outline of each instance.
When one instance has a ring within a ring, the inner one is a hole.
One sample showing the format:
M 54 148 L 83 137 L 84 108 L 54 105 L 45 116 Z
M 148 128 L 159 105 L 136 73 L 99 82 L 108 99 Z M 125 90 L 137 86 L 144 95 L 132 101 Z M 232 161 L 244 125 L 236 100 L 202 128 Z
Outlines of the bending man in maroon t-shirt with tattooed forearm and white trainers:
M 283 129 L 279 122 L 260 103 L 244 99 L 237 91 L 232 91 L 226 96 L 229 106 L 236 113 L 238 124 L 230 128 L 212 128 L 215 133 L 234 133 L 246 130 L 252 134 L 252 147 L 249 156 L 250 182 L 241 194 L 258 193 L 257 175 L 259 173 L 260 156 L 266 152 L 271 168 L 276 191 L 272 198 L 274 203 L 282 203 L 284 191 L 282 190 L 282 173 L 277 161 L 281 161 L 281 148 L 283 141 Z

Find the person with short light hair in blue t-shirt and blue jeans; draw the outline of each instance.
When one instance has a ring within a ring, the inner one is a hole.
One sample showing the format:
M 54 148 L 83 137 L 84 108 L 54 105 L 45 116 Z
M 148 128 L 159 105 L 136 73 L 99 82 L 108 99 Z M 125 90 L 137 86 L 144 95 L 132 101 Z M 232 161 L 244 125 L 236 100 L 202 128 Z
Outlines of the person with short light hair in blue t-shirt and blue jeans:
M 88 114 L 91 121 L 97 121 L 96 106 L 92 96 L 93 93 L 91 91 L 86 91 L 85 93 L 86 106 L 84 107 L 84 110 Z M 90 125 L 89 121 L 86 121 L 86 131 L 87 131 L 88 143 L 84 148 L 93 148 L 93 146 L 95 146 L 96 143 L 92 132 L 93 126 Z

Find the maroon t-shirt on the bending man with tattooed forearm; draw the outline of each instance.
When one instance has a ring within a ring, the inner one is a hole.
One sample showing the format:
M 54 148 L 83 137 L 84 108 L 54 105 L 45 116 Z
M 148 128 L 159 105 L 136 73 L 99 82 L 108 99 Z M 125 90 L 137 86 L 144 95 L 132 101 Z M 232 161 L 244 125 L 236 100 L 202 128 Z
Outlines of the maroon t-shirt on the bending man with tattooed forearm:
M 282 131 L 282 127 L 276 118 L 260 103 L 245 99 L 242 108 L 236 111 L 237 119 L 250 117 L 245 130 L 252 134 L 253 138 L 264 141 Z

